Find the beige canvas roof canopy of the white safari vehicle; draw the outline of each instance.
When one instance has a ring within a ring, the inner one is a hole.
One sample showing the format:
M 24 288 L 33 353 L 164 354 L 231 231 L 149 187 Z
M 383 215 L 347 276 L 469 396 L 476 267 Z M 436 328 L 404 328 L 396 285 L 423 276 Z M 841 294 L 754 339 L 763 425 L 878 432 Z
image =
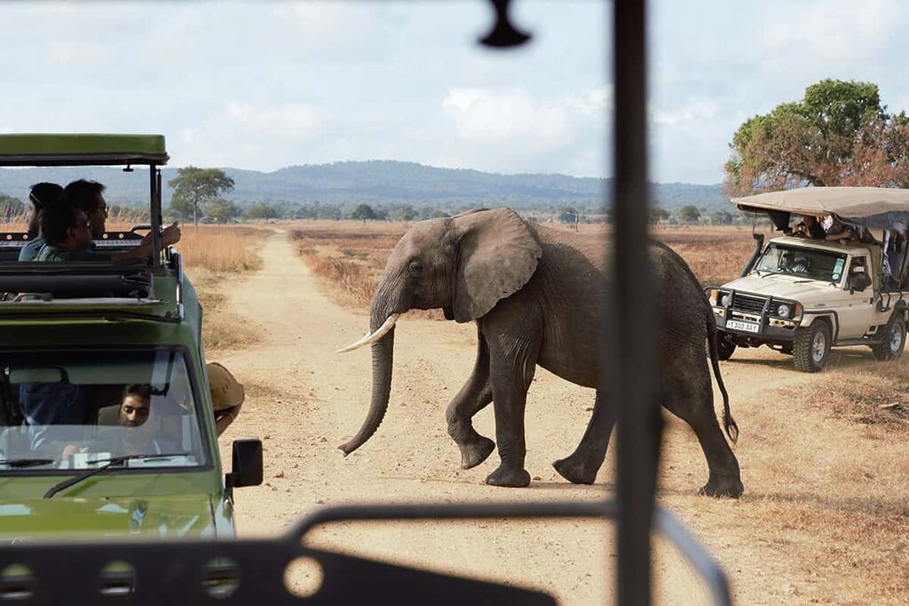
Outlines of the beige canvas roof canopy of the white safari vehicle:
M 909 222 L 909 189 L 800 187 L 733 198 L 732 203 L 746 213 L 768 213 L 772 217 L 832 214 L 845 224 L 872 229 L 893 229 L 898 222 Z

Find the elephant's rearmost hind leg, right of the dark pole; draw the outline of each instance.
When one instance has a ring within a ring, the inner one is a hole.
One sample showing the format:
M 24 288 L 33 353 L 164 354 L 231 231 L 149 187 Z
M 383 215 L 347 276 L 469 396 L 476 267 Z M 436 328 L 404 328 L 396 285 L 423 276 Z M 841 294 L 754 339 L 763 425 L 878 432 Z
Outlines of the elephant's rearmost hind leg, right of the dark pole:
M 714 392 L 704 353 L 695 362 L 681 361 L 676 368 L 667 368 L 665 406 L 675 416 L 691 425 L 710 476 L 700 493 L 715 497 L 739 497 L 744 492 L 738 461 L 726 442 L 714 412 Z

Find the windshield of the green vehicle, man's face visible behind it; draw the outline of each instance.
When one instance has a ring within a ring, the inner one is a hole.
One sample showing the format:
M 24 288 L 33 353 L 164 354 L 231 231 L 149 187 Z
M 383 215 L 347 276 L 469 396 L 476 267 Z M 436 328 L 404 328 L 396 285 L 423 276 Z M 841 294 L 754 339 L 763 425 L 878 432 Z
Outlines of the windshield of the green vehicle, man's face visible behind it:
M 201 466 L 199 428 L 180 351 L 0 350 L 0 474 Z

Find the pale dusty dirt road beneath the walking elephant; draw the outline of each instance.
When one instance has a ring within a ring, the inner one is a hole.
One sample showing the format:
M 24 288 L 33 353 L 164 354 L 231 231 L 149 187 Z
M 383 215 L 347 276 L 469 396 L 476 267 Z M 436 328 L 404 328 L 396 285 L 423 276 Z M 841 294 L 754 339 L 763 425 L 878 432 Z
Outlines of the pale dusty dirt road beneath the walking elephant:
M 261 326 L 262 343 L 209 354 L 234 369 L 246 385 L 244 412 L 221 440 L 225 465 L 232 440 L 259 437 L 265 444 L 265 485 L 236 492 L 241 536 L 281 532 L 323 504 L 594 499 L 612 491 L 612 456 L 594 486 L 564 482 L 551 467 L 554 459 L 572 452 L 584 432 L 593 392 L 542 369 L 527 405 L 531 488 L 484 485 L 497 464 L 495 454 L 480 467 L 461 471 L 457 448 L 445 432 L 444 411 L 473 364 L 474 326 L 406 316 L 396 329 L 395 380 L 385 422 L 370 442 L 345 459 L 336 445 L 353 435 L 365 417 L 369 352 L 334 352 L 362 336 L 368 319 L 320 293 L 285 233 L 271 236 L 262 256 L 262 270 L 237 283 L 229 295 L 234 313 Z M 736 454 L 746 497 L 734 502 L 695 496 L 706 480 L 703 454 L 693 432 L 669 420 L 661 502 L 724 562 L 741 601 L 806 601 L 819 587 L 811 584 L 817 580 L 803 578 L 797 562 L 786 561 L 784 551 L 754 536 L 751 518 L 764 512 L 766 504 L 749 502 L 748 495 L 767 492 L 772 482 L 755 469 L 765 462 L 764 451 L 757 450 L 764 421 L 752 423 L 751 417 L 758 402 L 778 399 L 773 391 L 780 386 L 777 377 L 794 389 L 818 379 L 783 372 L 790 362 L 782 356 L 752 352 L 724 363 L 743 432 Z M 848 363 L 848 356 L 842 363 Z M 768 381 L 771 375 L 775 384 Z M 491 407 L 477 416 L 476 427 L 494 435 Z M 342 524 L 317 531 L 312 539 L 375 558 L 541 587 L 562 603 L 602 602 L 613 582 L 612 529 L 594 522 Z M 655 548 L 661 601 L 703 603 L 704 588 L 684 561 L 660 541 Z M 301 573 L 295 581 L 307 580 Z

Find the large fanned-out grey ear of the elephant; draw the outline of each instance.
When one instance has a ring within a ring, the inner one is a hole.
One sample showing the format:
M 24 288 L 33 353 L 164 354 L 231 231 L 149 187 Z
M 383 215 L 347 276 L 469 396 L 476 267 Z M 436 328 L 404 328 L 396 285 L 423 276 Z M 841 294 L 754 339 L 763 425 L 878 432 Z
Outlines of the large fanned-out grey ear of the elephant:
M 507 208 L 455 216 L 458 264 L 454 320 L 470 322 L 516 293 L 536 270 L 543 247 L 536 233 Z

